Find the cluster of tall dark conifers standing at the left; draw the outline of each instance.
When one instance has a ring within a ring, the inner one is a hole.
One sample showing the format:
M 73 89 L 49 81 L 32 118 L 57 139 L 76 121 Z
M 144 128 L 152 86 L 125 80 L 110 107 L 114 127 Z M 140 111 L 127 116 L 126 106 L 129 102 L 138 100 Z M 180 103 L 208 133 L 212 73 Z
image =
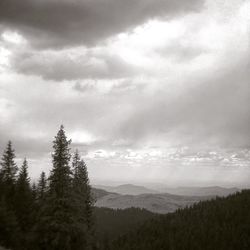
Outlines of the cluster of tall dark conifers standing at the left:
M 0 162 L 0 246 L 33 250 L 96 249 L 87 166 L 70 152 L 61 126 L 53 141 L 52 170 L 31 184 L 28 161 L 18 168 L 9 141 Z

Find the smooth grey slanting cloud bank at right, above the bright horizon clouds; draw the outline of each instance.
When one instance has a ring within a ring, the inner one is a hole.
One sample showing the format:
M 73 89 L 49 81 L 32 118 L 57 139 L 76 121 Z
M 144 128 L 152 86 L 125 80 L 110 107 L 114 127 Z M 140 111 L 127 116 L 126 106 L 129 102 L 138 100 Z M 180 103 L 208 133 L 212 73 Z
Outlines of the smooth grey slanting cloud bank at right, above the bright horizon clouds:
M 139 145 L 157 144 L 158 138 L 175 145 L 250 146 L 249 77 L 249 59 L 242 58 L 216 74 L 186 79 L 188 87 L 178 93 L 162 84 L 154 99 L 130 113 L 117 136 Z

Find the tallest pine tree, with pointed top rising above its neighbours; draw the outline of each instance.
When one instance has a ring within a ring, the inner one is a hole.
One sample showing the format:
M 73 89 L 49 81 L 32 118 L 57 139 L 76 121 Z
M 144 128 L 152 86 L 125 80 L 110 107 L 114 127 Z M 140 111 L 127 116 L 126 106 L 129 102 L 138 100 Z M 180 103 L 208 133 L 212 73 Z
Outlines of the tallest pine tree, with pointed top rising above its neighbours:
M 72 197 L 72 177 L 69 166 L 70 140 L 63 126 L 53 142 L 53 169 L 49 176 L 46 201 L 40 213 L 38 238 L 41 249 L 71 250 L 77 231 L 74 202 Z

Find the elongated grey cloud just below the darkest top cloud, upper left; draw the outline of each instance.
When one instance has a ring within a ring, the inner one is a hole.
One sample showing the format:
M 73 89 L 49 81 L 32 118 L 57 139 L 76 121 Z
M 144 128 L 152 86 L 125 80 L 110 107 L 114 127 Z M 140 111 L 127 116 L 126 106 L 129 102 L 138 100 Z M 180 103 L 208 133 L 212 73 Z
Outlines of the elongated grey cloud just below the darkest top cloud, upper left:
M 136 69 L 116 55 L 88 52 L 76 56 L 61 52 L 22 52 L 11 59 L 19 73 L 37 75 L 47 80 L 117 79 L 133 76 Z M 60 65 L 60 66 L 59 66 Z

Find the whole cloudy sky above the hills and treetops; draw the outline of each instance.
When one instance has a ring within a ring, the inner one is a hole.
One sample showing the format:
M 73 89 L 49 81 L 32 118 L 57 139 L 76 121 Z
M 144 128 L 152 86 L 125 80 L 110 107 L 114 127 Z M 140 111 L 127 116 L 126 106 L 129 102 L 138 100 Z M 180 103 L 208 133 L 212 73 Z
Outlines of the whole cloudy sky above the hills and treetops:
M 249 0 L 1 0 L 0 150 L 32 178 L 61 124 L 93 183 L 250 183 Z

